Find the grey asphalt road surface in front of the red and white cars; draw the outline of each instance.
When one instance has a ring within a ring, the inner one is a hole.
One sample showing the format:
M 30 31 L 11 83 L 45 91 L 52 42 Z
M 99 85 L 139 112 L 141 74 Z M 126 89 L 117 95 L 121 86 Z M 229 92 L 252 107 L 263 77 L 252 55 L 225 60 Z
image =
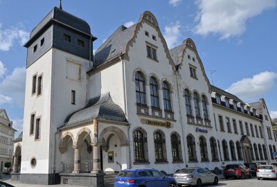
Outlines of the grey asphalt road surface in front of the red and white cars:
M 215 185 L 205 185 L 207 187 Z M 259 180 L 256 177 L 252 179 L 221 179 L 217 186 L 222 187 L 277 187 L 277 181 L 271 179 L 262 179 Z

